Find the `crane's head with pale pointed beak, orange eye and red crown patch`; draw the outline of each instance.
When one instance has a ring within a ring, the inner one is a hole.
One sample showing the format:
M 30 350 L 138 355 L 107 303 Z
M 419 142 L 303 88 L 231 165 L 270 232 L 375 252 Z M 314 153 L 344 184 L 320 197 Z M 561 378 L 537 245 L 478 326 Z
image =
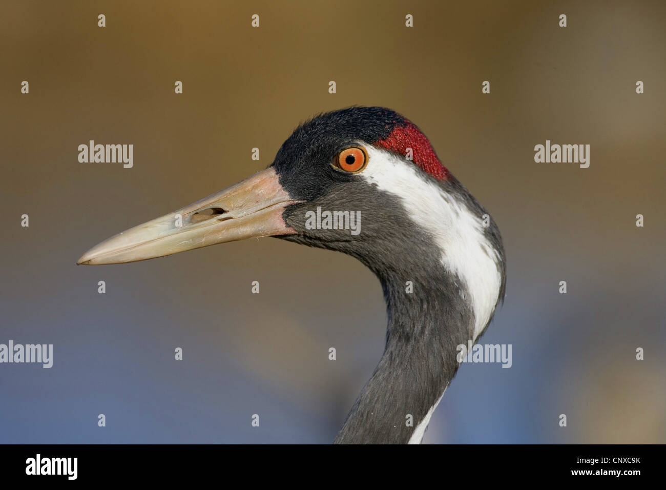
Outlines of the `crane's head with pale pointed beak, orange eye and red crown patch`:
M 347 253 L 382 281 L 441 267 L 458 278 L 462 295 L 483 303 L 475 308 L 484 311 L 481 323 L 503 293 L 495 223 L 416 125 L 382 107 L 314 117 L 267 169 L 123 231 L 78 263 L 141 261 L 266 236 Z

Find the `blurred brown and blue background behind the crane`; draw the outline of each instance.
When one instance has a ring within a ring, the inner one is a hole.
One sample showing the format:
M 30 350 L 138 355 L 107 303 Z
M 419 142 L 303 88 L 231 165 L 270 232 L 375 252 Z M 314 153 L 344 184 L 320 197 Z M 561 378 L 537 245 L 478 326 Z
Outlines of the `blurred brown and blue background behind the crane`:
M 511 343 L 513 366 L 463 365 L 424 442 L 666 441 L 662 2 L 2 8 L 0 343 L 53 343 L 55 359 L 0 365 L 0 442 L 332 441 L 384 343 L 360 263 L 276 239 L 75 261 L 349 105 L 419 125 L 505 242 L 507 297 L 482 342 Z M 79 163 L 90 139 L 132 143 L 134 167 Z M 535 163 L 546 139 L 589 144 L 590 167 Z

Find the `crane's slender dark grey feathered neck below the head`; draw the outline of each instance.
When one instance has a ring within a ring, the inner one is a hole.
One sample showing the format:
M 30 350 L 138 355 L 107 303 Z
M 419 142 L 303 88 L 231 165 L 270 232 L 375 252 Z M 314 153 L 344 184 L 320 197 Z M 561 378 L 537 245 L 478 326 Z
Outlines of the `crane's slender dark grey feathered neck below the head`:
M 386 347 L 336 443 L 420 443 L 458 370 L 456 348 L 474 335 L 468 292 L 437 261 L 417 267 L 375 271 L 388 311 Z

